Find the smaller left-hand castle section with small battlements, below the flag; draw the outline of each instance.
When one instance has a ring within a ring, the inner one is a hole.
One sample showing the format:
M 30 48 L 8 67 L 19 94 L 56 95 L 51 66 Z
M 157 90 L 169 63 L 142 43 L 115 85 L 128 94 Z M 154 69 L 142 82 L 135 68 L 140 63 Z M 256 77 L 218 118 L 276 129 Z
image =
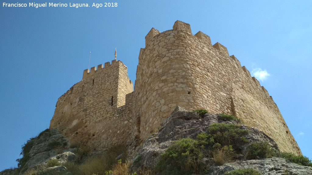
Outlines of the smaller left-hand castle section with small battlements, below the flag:
M 57 100 L 50 128 L 92 149 L 130 142 L 132 91 L 121 61 L 86 69 L 82 80 Z

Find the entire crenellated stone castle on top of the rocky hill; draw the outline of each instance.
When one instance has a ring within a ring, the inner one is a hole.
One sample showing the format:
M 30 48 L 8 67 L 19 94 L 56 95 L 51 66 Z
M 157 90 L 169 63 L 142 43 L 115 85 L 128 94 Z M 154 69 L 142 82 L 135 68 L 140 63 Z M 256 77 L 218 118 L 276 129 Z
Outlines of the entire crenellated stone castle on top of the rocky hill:
M 57 103 L 50 128 L 71 142 L 105 150 L 145 140 L 176 106 L 238 116 L 278 144 L 301 154 L 272 97 L 227 48 L 176 21 L 173 30 L 152 28 L 140 50 L 136 81 L 113 60 L 84 70 Z

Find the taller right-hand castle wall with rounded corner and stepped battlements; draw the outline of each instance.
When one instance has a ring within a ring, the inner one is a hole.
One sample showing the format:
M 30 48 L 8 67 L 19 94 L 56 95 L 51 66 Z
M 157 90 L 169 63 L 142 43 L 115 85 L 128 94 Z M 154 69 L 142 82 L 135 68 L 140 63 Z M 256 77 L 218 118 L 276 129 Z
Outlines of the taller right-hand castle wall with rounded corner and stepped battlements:
M 176 106 L 207 109 L 243 119 L 273 138 L 281 151 L 301 154 L 278 107 L 227 48 L 176 21 L 173 30 L 152 28 L 140 50 L 134 87 L 133 135 L 154 132 Z

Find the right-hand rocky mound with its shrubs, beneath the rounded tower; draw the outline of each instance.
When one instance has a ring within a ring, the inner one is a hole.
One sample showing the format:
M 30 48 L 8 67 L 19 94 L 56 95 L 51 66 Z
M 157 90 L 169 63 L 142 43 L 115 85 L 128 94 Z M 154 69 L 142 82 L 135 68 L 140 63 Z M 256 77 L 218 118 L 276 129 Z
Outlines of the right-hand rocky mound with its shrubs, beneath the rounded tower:
M 312 174 L 312 164 L 308 158 L 300 156 L 306 158 L 306 165 L 310 166 L 278 158 L 287 156 L 291 159 L 290 154 L 280 153 L 275 141 L 265 133 L 241 125 L 236 117 L 210 113 L 198 115 L 197 112 L 177 107 L 159 131 L 144 142 L 132 159 L 131 168 L 156 167 L 161 174 L 222 175 L 246 168 L 264 175 Z

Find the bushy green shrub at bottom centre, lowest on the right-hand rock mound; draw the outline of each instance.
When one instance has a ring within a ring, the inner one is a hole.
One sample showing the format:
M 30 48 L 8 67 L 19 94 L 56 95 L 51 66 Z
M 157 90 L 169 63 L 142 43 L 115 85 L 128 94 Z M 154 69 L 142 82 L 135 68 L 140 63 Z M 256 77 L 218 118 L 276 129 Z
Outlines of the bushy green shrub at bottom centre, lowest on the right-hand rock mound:
M 175 141 L 164 154 L 161 155 L 156 169 L 165 175 L 199 174 L 204 171 L 200 162 L 203 158 L 201 145 L 194 139 Z

